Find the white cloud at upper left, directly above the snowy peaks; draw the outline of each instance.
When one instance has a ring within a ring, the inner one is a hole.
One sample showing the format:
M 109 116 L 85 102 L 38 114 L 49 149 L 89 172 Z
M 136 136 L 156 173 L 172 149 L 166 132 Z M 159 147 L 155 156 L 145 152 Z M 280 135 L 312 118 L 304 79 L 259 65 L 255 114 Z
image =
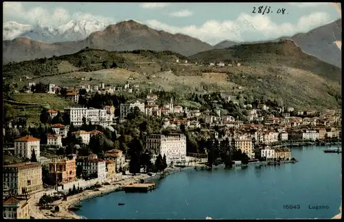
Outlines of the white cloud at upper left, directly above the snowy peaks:
M 71 15 L 65 8 L 55 8 L 53 11 L 42 7 L 25 9 L 20 2 L 3 3 L 3 16 L 21 19 L 32 25 L 40 26 L 58 26 L 63 25 L 71 20 L 96 20 L 103 23 L 114 22 L 114 19 L 109 17 L 83 12 L 76 12 Z

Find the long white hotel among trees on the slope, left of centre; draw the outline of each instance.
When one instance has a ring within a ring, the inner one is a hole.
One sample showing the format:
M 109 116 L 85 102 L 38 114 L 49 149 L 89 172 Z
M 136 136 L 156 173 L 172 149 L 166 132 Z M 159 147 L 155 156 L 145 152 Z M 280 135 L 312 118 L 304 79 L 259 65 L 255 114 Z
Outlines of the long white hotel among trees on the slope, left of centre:
M 74 126 L 81 126 L 84 117 L 86 118 L 86 123 L 91 121 L 92 124 L 103 126 L 110 126 L 113 124 L 113 115 L 107 114 L 106 109 L 68 107 L 65 108 L 65 113 L 68 113 L 70 122 L 73 123 Z

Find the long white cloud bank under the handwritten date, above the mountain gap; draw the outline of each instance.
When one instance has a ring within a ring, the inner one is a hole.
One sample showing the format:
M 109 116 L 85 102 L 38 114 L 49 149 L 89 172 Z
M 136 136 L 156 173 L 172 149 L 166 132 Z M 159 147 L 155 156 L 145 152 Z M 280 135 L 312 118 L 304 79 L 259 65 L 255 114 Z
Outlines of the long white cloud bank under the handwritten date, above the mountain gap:
M 149 20 L 145 23 L 154 29 L 164 30 L 173 34 L 187 34 L 202 41 L 215 44 L 226 39 L 230 41 L 259 41 L 281 36 L 292 36 L 298 32 L 308 32 L 315 27 L 330 22 L 330 16 L 325 12 L 314 12 L 308 16 L 302 16 L 297 24 L 277 24 L 268 16 L 261 14 L 252 16 L 246 13 L 240 14 L 235 20 L 209 20 L 200 26 L 175 27 L 156 20 Z

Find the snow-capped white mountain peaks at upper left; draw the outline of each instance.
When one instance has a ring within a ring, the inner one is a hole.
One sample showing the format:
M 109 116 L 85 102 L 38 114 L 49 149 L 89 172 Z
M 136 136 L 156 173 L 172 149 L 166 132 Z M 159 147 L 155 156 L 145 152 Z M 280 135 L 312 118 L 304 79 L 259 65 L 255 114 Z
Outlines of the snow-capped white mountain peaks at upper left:
M 78 41 L 87 38 L 89 34 L 103 31 L 108 24 L 99 21 L 69 21 L 58 27 L 22 25 L 16 22 L 3 23 L 3 40 L 12 40 L 25 36 L 35 41 L 55 43 L 63 41 Z

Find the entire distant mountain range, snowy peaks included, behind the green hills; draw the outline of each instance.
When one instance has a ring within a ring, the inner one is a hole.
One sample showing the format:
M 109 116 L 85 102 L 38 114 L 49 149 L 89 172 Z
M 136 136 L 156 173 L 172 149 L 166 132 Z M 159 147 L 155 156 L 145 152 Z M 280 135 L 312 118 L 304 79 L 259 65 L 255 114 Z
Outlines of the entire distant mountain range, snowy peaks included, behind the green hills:
M 222 41 L 213 46 L 184 34 L 153 30 L 133 20 L 114 25 L 97 21 L 70 21 L 57 28 L 32 27 L 14 22 L 4 23 L 3 26 L 4 63 L 73 54 L 85 47 L 109 51 L 169 50 L 191 56 L 211 49 L 246 44 Z M 288 38 L 299 45 L 303 52 L 341 67 L 341 49 L 338 47 L 338 42 L 341 42 L 341 19 L 317 27 L 308 33 L 296 34 Z

